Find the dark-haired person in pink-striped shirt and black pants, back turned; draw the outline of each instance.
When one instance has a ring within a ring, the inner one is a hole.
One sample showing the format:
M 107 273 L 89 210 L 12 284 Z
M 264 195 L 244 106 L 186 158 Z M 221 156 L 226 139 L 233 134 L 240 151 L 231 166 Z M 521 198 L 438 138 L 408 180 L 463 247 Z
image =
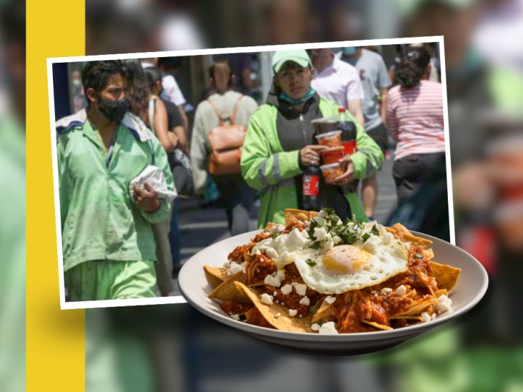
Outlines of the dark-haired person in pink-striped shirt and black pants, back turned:
M 429 63 L 427 49 L 408 49 L 397 69 L 399 85 L 387 98 L 389 130 L 397 141 L 392 174 L 399 204 L 425 181 L 446 176 L 442 85 L 427 80 Z

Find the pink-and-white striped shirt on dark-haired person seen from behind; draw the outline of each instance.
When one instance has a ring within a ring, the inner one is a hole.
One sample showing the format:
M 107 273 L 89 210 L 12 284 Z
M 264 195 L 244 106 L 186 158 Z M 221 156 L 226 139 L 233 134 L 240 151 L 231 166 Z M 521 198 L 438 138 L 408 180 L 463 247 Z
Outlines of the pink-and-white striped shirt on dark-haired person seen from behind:
M 398 141 L 394 159 L 445 151 L 441 84 L 422 80 L 411 89 L 394 86 L 387 115 L 390 133 Z

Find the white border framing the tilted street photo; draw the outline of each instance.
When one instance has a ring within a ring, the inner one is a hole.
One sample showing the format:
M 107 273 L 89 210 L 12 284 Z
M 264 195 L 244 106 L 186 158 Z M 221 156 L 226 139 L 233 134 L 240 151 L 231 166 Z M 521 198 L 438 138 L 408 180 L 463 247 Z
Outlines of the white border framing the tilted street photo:
M 359 41 L 334 41 L 317 42 L 309 44 L 289 44 L 289 45 L 269 45 L 269 46 L 244 46 L 234 48 L 218 49 L 197 49 L 184 51 L 159 51 L 132 54 L 101 54 L 96 56 L 71 56 L 53 57 L 47 59 L 47 82 L 49 90 L 49 119 L 51 125 L 51 160 L 53 165 L 53 188 L 54 188 L 54 212 L 56 223 L 56 253 L 58 258 L 59 273 L 59 295 L 60 308 L 65 309 L 85 309 L 85 308 L 111 308 L 116 306 L 140 306 L 140 305 L 165 305 L 172 303 L 186 303 L 183 296 L 169 296 L 156 298 L 134 298 L 134 299 L 114 299 L 104 301 L 65 301 L 64 286 L 64 261 L 61 247 L 61 215 L 59 203 L 59 181 L 58 181 L 58 161 L 56 156 L 56 121 L 54 119 L 54 82 L 53 65 L 61 63 L 75 63 L 79 61 L 101 61 L 101 60 L 124 60 L 124 59 L 150 59 L 152 57 L 180 57 L 180 56 L 206 56 L 213 54 L 236 54 L 236 53 L 260 53 L 267 51 L 280 51 L 289 49 L 322 49 L 322 48 L 342 48 L 345 46 L 375 46 L 375 45 L 401 45 L 401 44 L 439 44 L 439 61 L 441 64 L 442 79 L 442 99 L 444 116 L 444 137 L 445 137 L 445 159 L 447 166 L 447 196 L 449 200 L 449 233 L 450 242 L 456 244 L 454 233 L 454 203 L 452 199 L 452 169 L 450 161 L 449 144 L 449 112 L 447 106 L 447 73 L 445 68 L 444 39 L 443 36 L 422 36 L 409 38 L 393 39 L 365 39 Z

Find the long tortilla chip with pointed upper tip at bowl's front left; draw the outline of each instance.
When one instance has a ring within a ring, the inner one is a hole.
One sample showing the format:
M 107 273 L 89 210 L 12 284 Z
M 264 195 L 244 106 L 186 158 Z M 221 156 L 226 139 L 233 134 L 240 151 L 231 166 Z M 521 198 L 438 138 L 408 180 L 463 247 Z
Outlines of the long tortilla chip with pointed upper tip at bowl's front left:
M 291 317 L 289 316 L 289 309 L 286 306 L 279 305 L 278 303 L 273 303 L 272 305 L 262 303 L 260 300 L 261 291 L 255 288 L 249 288 L 239 281 L 236 281 L 234 285 L 238 291 L 241 291 L 241 293 L 249 297 L 258 311 L 262 313 L 265 320 L 274 326 L 274 328 L 289 332 L 313 332 L 310 327 L 312 314 L 305 317 Z

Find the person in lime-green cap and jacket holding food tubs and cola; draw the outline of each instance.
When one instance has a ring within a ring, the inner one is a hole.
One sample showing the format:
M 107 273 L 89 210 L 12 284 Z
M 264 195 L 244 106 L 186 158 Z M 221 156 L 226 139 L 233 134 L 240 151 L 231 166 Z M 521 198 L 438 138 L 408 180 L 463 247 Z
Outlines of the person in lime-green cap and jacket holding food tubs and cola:
M 274 81 L 267 103 L 251 116 L 241 151 L 241 174 L 249 186 L 262 190 L 258 218 L 260 228 L 268 222 L 284 223 L 285 208 L 299 208 L 302 171 L 319 164 L 322 146 L 312 145 L 311 121 L 337 116 L 339 106 L 320 98 L 311 88 L 312 66 L 304 50 L 277 51 L 272 61 Z M 349 118 L 357 123 L 352 117 Z M 383 163 L 379 146 L 357 124 L 358 151 L 346 156 L 347 171 L 334 185 L 320 184 L 320 202 L 334 208 L 341 218 L 355 215 L 367 221 L 354 189 L 354 179 L 372 176 Z

